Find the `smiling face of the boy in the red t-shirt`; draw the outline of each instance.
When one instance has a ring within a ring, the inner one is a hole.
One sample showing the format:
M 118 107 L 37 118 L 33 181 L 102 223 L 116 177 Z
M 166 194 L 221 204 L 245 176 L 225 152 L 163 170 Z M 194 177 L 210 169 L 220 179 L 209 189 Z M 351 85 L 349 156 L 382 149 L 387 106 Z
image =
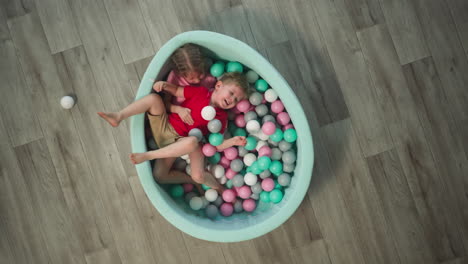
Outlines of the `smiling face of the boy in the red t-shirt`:
M 212 95 L 212 102 L 219 108 L 231 109 L 244 98 L 245 94 L 239 86 L 218 81 Z

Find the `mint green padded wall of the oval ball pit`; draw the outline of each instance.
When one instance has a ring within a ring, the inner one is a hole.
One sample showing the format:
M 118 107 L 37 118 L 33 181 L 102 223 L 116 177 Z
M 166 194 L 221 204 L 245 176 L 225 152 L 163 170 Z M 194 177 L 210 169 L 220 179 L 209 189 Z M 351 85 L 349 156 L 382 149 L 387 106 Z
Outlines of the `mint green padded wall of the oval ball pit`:
M 284 223 L 298 208 L 307 192 L 312 176 L 314 149 L 312 135 L 306 116 L 279 72 L 257 51 L 247 44 L 214 32 L 189 31 L 169 40 L 151 61 L 141 81 L 136 99 L 148 95 L 153 81 L 161 80 L 170 70 L 168 59 L 180 46 L 195 43 L 204 48 L 208 55 L 225 61 L 238 61 L 258 73 L 278 93 L 297 130 L 297 162 L 291 184 L 285 188 L 282 201 L 278 204 L 258 202 L 252 213 L 242 212 L 230 217 L 218 216 L 210 220 L 201 211 L 193 211 L 183 201 L 174 199 L 157 184 L 152 176 L 150 162 L 136 166 L 141 184 L 159 213 L 183 232 L 199 239 L 214 242 L 237 242 L 264 235 Z M 131 143 L 133 152 L 147 151 L 144 133 L 144 114 L 131 118 Z

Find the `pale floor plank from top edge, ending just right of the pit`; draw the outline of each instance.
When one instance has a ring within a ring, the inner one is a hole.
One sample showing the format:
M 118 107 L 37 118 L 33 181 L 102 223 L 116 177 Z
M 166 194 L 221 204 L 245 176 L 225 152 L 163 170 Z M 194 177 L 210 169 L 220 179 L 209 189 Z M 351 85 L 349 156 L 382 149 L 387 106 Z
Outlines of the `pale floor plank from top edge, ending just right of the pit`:
M 320 125 L 349 117 L 348 108 L 338 84 L 322 33 L 313 14 L 313 3 L 307 0 L 276 1 L 294 51 L 294 58 L 310 91 L 308 100 L 313 105 Z M 284 56 L 278 60 L 284 59 Z M 276 65 L 281 65 L 278 62 Z

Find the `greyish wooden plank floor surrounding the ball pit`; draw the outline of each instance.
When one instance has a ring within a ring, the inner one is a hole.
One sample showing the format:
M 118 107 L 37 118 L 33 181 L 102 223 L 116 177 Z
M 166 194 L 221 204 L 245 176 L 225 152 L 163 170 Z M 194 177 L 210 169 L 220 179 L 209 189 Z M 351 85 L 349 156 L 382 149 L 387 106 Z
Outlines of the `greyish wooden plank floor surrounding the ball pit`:
M 314 136 L 301 207 L 251 241 L 174 228 L 96 115 L 194 29 L 265 55 Z M 467 52 L 466 0 L 2 0 L 0 263 L 468 263 Z

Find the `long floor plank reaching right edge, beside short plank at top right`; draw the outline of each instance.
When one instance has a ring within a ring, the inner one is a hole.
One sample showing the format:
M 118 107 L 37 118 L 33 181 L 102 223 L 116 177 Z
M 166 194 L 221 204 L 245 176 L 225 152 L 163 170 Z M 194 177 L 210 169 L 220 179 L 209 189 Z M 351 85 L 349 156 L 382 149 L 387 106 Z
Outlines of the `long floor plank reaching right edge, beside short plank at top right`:
M 426 42 L 455 120 L 468 119 L 468 59 L 446 1 L 416 0 Z

